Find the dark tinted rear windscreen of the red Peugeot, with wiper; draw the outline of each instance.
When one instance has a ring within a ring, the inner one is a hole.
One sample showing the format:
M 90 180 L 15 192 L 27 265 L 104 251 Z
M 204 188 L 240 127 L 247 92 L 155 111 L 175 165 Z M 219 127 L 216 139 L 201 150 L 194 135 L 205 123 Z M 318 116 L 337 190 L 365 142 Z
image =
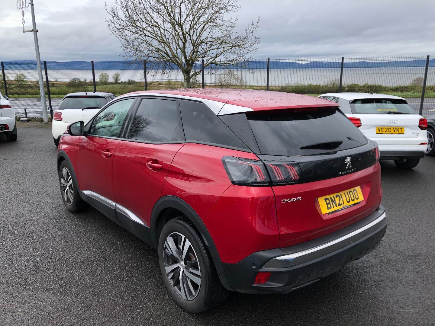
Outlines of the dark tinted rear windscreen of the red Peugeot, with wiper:
M 324 154 L 367 144 L 365 136 L 335 107 L 241 113 L 221 119 L 254 153 L 263 155 Z

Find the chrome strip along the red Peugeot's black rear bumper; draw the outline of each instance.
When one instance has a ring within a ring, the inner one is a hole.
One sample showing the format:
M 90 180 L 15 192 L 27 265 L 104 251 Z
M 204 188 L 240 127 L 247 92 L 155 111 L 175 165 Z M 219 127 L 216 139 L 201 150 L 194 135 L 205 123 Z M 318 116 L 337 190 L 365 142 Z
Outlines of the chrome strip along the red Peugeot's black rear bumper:
M 355 241 L 360 240 L 365 235 L 361 235 L 360 233 L 364 232 L 368 229 L 376 229 L 376 226 L 384 220 L 386 217 L 386 213 L 384 212 L 381 216 L 379 216 L 376 220 L 368 223 L 367 225 L 355 230 L 351 233 L 348 233 L 344 236 L 341 236 L 335 240 L 324 243 L 320 246 L 299 251 L 297 253 L 291 253 L 284 256 L 278 256 L 271 260 L 269 260 L 263 268 L 288 268 L 293 267 L 302 263 L 306 263 L 316 258 L 320 258 L 328 253 L 334 252 L 335 250 L 344 248 L 345 246 L 354 243 Z M 371 230 L 370 230 L 371 231 Z

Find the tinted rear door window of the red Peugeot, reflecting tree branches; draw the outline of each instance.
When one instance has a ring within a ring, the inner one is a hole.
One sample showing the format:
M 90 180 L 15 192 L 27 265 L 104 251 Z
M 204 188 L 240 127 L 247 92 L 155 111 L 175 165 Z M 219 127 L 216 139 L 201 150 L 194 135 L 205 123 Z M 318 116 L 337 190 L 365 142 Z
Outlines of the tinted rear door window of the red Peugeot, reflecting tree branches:
M 183 141 L 184 134 L 175 100 L 144 98 L 127 138 L 144 142 Z

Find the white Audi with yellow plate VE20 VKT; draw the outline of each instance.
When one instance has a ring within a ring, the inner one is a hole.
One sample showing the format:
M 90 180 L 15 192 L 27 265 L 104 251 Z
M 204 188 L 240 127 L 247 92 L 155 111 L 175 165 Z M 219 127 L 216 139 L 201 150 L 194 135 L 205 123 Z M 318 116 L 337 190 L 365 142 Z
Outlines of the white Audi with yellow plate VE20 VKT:
M 380 160 L 394 160 L 412 169 L 425 156 L 427 120 L 402 97 L 374 93 L 327 93 L 318 96 L 340 109 L 369 139 L 379 145 Z

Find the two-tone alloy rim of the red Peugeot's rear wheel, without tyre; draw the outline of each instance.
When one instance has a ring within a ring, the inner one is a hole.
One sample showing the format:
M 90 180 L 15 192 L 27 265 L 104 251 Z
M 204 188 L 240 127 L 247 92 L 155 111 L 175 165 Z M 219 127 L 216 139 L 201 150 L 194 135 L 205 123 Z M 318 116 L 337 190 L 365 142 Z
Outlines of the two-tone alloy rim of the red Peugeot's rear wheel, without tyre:
M 201 287 L 201 269 L 190 241 L 181 233 L 171 233 L 164 243 L 163 259 L 174 291 L 185 300 L 193 300 Z

